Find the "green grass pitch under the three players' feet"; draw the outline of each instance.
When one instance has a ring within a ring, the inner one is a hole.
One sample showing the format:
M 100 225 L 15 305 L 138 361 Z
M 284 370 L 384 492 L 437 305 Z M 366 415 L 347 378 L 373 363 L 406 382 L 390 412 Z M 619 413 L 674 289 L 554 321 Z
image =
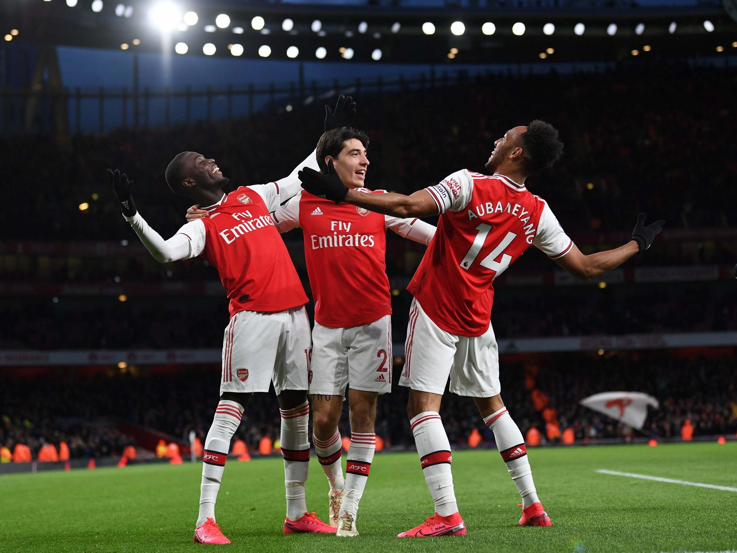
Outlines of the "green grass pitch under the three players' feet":
M 596 473 L 596 469 L 737 487 L 737 442 L 531 449 L 549 528 L 517 526 L 519 495 L 499 453 L 453 454 L 468 535 L 397 539 L 432 513 L 415 453 L 380 454 L 358 538 L 282 535 L 279 459 L 228 462 L 217 520 L 232 551 L 717 552 L 737 549 L 737 493 Z M 345 458 L 343 458 L 345 459 Z M 312 456 L 307 507 L 327 518 L 327 482 Z M 0 476 L 0 552 L 184 552 L 192 543 L 200 464 Z M 217 549 L 217 548 L 216 548 Z

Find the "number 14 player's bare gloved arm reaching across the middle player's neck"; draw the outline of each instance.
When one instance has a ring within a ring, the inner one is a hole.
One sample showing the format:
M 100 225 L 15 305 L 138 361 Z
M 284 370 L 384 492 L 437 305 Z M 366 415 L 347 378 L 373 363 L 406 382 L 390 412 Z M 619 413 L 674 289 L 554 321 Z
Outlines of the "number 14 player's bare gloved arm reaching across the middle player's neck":
M 373 212 L 393 215 L 399 218 L 429 217 L 438 215 L 438 204 L 427 190 L 418 190 L 412 195 L 395 194 L 365 194 L 351 190 L 343 184 L 338 173 L 335 173 L 332 159 L 327 163 L 327 174 L 318 173 L 309 167 L 301 170 L 299 180 L 302 188 L 310 194 L 322 196 L 340 204 L 344 201 L 354 206 L 363 207 Z

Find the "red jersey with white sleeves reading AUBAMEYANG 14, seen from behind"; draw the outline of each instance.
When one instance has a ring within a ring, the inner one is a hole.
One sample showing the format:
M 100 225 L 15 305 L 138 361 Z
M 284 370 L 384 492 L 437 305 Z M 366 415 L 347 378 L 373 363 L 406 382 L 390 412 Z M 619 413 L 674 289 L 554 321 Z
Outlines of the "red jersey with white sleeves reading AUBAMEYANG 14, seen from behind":
M 427 191 L 438 204 L 438 231 L 408 291 L 446 332 L 489 329 L 494 279 L 537 246 L 549 257 L 573 247 L 548 204 L 504 175 L 461 170 Z

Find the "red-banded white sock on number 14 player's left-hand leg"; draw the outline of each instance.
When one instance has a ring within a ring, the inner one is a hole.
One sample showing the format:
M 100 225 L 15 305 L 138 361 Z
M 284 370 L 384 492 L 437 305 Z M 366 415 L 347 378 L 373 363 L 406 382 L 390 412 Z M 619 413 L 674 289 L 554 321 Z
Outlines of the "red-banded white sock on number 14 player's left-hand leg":
M 441 516 L 458 512 L 450 471 L 450 442 L 443 420 L 435 411 L 425 411 L 410 420 L 417 453 L 425 474 L 425 482 L 435 501 L 435 511 Z

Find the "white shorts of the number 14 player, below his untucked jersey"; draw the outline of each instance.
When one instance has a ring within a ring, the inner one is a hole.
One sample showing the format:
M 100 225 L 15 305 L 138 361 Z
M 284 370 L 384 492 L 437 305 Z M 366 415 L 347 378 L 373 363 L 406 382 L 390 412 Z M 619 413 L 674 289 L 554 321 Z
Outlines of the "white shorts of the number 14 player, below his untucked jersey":
M 492 325 L 481 336 L 447 333 L 412 300 L 405 344 L 405 368 L 399 386 L 418 392 L 450 391 L 470 397 L 492 397 L 501 392 L 499 350 Z

